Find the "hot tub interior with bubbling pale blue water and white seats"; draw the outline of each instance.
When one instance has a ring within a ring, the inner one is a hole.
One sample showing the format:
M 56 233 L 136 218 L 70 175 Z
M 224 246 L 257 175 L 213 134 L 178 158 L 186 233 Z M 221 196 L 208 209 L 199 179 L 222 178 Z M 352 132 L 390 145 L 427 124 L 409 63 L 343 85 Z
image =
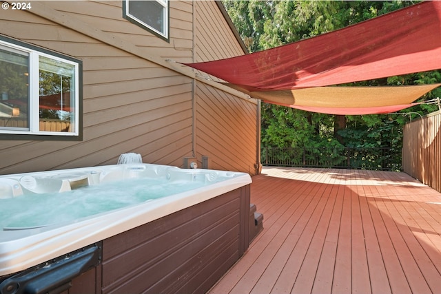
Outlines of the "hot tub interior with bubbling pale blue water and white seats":
M 115 165 L 0 178 L 0 227 L 29 229 L 72 222 L 237 176 L 161 165 Z

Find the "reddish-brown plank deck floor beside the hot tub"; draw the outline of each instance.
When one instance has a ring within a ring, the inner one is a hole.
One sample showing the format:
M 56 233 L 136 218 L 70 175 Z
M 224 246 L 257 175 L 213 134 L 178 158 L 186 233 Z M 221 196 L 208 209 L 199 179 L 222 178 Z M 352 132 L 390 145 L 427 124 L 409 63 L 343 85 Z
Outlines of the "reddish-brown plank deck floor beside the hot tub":
M 263 231 L 209 293 L 441 293 L 441 193 L 404 173 L 264 168 Z

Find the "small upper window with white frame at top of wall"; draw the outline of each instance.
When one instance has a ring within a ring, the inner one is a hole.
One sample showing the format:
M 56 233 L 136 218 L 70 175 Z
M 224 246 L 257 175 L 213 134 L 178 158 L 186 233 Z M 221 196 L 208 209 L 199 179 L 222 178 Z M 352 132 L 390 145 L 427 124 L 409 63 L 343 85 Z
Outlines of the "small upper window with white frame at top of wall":
M 124 0 L 123 16 L 168 41 L 168 1 L 167 0 Z

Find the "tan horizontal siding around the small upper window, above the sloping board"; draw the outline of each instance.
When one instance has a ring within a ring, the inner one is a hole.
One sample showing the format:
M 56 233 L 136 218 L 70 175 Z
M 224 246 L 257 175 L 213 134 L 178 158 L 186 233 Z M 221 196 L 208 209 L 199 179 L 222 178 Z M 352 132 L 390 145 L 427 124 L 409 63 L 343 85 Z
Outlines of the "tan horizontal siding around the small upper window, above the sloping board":
M 72 19 L 145 48 L 150 55 L 189 62 L 192 58 L 192 1 L 169 1 L 170 42 L 123 19 L 123 1 L 47 1 L 45 5 Z

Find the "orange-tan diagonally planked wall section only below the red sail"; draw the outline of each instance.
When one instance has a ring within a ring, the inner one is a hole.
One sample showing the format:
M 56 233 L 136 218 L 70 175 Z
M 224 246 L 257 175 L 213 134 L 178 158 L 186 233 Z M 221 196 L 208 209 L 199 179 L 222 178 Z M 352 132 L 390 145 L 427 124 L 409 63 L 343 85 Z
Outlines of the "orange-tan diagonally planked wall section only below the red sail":
M 210 169 L 254 174 L 256 105 L 199 83 L 196 100 L 196 157 L 208 156 Z

